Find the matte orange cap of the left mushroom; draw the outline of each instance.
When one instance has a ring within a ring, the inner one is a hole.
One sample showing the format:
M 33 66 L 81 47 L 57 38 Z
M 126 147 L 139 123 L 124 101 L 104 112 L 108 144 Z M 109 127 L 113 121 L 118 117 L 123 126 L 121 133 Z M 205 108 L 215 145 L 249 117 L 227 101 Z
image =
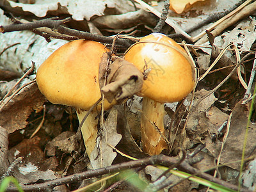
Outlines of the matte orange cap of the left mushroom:
M 99 42 L 74 40 L 62 45 L 40 65 L 36 83 L 53 104 L 88 110 L 100 99 L 99 64 L 108 51 Z M 104 109 L 111 107 L 104 102 Z

